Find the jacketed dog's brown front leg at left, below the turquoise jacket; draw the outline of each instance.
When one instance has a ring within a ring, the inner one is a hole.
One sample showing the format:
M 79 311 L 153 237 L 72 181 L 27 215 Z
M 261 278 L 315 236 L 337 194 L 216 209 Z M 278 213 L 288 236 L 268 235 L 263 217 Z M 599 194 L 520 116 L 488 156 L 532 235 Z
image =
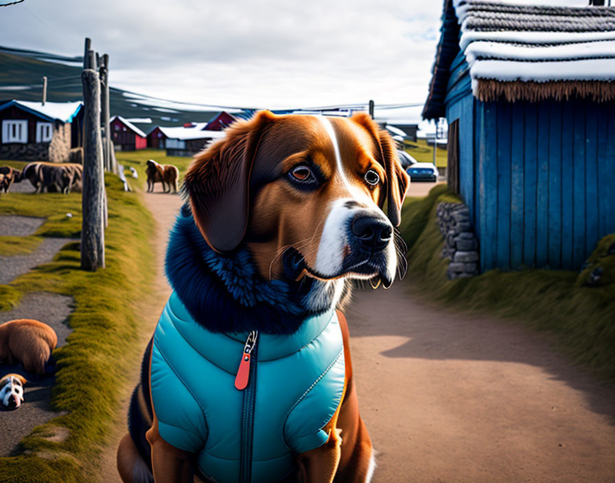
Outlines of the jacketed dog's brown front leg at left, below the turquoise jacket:
M 156 483 L 192 483 L 194 472 L 190 454 L 178 449 L 165 440 L 158 431 L 158 419 L 154 414 L 154 424 L 146 433 L 152 447 L 152 470 Z

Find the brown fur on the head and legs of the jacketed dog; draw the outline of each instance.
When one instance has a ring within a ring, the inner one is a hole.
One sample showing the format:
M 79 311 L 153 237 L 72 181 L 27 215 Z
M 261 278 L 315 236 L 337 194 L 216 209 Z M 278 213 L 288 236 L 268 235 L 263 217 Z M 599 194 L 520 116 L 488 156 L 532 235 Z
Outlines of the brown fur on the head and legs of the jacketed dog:
M 367 194 L 381 209 L 387 201 L 388 217 L 397 226 L 409 180 L 395 155 L 393 141 L 367 115 L 356 115 L 349 121 L 334 119 L 332 125 L 338 130 L 339 149 L 352 188 Z M 234 123 L 223 140 L 197 156 L 186 175 L 192 213 L 209 246 L 228 252 L 246 244 L 265 279 L 275 279 L 281 273 L 278 254 L 286 246 L 300 245 L 308 265 L 314 263 L 329 201 L 350 196 L 348 186 L 340 180 L 332 148 L 314 117 L 262 112 L 250 121 Z M 280 176 L 306 156 L 329 180 L 310 196 L 292 189 Z M 378 172 L 384 183 L 368 188 L 362 179 L 367 169 Z M 262 183 L 253 197 L 251 179 Z M 339 311 L 338 319 L 346 364 L 342 399 L 323 428 L 329 432 L 327 442 L 296 455 L 299 471 L 293 482 L 362 483 L 370 472 L 373 449 L 358 410 L 349 331 Z M 151 360 L 148 379 L 151 384 Z M 153 415 L 146 437 L 155 482 L 200 481 L 193 476 L 192 455 L 163 440 L 155 410 Z M 134 482 L 135 474 L 145 466 L 128 434 L 119 445 L 117 464 L 124 483 Z

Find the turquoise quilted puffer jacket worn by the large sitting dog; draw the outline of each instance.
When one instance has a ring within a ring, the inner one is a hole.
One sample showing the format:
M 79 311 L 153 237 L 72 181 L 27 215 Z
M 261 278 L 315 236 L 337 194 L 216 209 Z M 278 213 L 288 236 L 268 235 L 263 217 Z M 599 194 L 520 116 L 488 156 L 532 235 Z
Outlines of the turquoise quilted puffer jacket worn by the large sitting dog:
M 152 402 L 160 434 L 196 453 L 202 474 L 220 483 L 272 483 L 291 473 L 293 453 L 327 440 L 322 428 L 344 387 L 343 340 L 334 310 L 308 318 L 292 335 L 259 334 L 251 361 L 255 379 L 237 390 L 247 336 L 207 331 L 175 293 L 154 333 Z M 249 390 L 254 402 L 246 431 Z M 251 458 L 245 452 L 250 432 Z M 240 475 L 246 458 L 251 462 Z

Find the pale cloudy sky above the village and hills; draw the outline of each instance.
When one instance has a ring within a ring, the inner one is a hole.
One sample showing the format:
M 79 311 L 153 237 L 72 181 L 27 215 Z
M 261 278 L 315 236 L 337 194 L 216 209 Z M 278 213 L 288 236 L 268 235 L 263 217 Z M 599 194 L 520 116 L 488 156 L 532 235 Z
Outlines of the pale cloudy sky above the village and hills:
M 25 0 L 0 8 L 0 45 L 76 56 L 89 36 L 110 56 L 113 86 L 183 102 L 422 104 L 441 9 L 440 0 Z

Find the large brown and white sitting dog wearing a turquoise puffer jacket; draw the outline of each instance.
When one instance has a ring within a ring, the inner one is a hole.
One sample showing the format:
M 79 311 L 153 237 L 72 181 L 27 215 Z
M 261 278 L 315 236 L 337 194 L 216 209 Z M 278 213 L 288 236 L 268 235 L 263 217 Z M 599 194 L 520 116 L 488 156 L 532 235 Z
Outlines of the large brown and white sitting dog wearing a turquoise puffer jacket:
M 263 111 L 196 157 L 118 448 L 125 483 L 371 480 L 340 308 L 353 279 L 403 275 L 408 184 L 363 114 Z

